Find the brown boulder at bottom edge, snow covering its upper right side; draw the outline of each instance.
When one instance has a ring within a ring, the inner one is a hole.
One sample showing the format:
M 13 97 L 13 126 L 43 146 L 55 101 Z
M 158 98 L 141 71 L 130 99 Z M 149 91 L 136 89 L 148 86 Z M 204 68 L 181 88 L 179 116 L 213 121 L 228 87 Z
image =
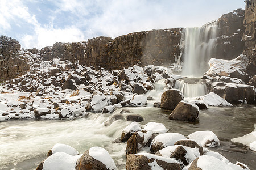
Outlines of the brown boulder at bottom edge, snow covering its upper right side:
M 101 147 L 92 147 L 85 151 L 76 162 L 76 170 L 82 169 L 117 169 L 109 152 Z

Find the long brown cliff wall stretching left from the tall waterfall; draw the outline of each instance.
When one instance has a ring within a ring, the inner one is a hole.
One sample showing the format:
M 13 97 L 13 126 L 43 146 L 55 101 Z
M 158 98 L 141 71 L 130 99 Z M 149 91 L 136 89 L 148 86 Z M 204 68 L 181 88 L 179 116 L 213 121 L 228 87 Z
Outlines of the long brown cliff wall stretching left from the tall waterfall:
M 96 69 L 122 69 L 133 65 L 169 65 L 180 55 L 181 28 L 129 33 L 114 40 L 96 37 L 88 42 L 60 43 L 43 48 L 44 60 L 60 57 Z

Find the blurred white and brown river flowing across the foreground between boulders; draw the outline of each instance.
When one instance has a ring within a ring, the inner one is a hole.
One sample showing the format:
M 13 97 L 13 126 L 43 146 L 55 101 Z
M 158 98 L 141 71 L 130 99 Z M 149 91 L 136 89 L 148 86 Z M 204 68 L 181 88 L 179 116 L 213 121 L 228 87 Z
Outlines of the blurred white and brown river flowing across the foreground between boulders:
M 189 123 L 168 120 L 170 112 L 154 107 L 119 108 L 113 114 L 120 114 L 122 109 L 144 117 L 147 122 L 162 122 L 169 132 L 189 135 L 194 131 L 212 130 L 221 141 L 221 146 L 209 148 L 220 152 L 231 162 L 236 160 L 256 168 L 256 154 L 247 147 L 230 141 L 235 137 L 254 130 L 256 108 L 250 105 L 238 107 L 210 107 L 200 111 L 199 119 Z M 125 143 L 112 143 L 121 136 L 121 131 L 130 122 L 114 121 L 105 127 L 104 121 L 110 114 L 90 114 L 86 118 L 75 120 L 14 120 L 0 122 L 0 169 L 35 169 L 46 158 L 47 152 L 55 143 L 65 143 L 76 148 L 80 153 L 93 146 L 105 148 L 118 169 L 125 169 Z

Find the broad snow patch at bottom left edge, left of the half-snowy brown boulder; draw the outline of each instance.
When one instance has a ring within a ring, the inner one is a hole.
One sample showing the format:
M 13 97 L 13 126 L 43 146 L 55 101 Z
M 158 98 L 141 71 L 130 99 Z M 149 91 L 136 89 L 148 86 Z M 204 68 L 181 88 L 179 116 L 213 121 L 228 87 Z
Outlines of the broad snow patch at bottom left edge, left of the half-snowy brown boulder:
M 61 169 L 71 170 L 76 168 L 77 159 L 81 158 L 81 155 L 72 156 L 65 152 L 56 152 L 44 160 L 43 170 Z

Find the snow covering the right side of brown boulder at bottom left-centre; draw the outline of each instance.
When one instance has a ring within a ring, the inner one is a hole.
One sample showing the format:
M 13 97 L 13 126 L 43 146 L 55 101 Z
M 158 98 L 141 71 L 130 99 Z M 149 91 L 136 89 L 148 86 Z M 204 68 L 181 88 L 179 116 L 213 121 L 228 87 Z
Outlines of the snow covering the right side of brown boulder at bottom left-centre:
M 91 147 L 89 149 L 89 155 L 92 156 L 92 158 L 106 165 L 107 169 L 117 169 L 117 167 L 115 166 L 114 160 L 109 155 L 109 152 L 106 151 L 104 148 Z

